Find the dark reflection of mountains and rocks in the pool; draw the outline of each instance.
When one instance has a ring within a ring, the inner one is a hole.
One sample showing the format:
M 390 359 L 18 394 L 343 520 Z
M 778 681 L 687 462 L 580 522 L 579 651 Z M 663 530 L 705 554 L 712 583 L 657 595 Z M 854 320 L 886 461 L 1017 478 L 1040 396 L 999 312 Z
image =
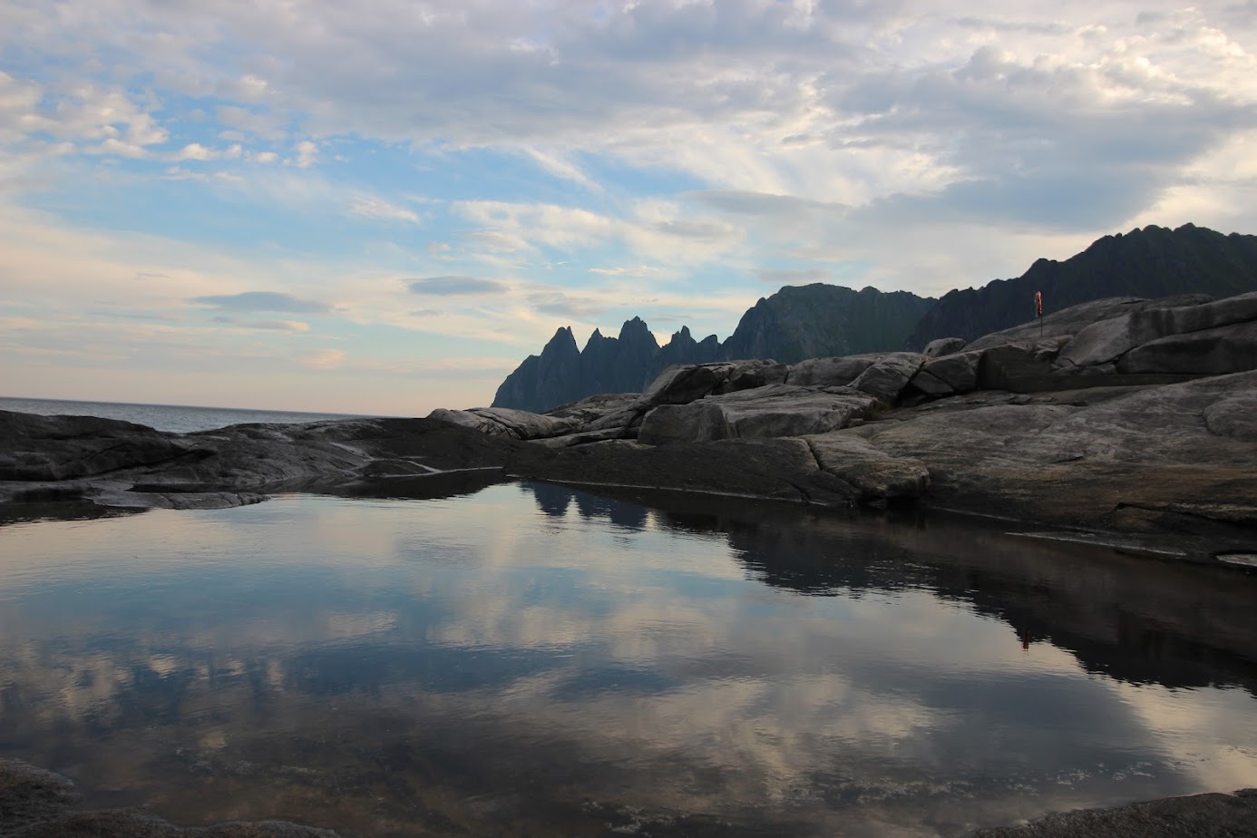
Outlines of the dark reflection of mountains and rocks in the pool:
M 1089 672 L 1136 685 L 1239 686 L 1257 696 L 1257 574 L 1013 538 L 945 515 L 799 511 L 637 491 L 611 500 L 527 486 L 554 509 L 574 501 L 583 518 L 620 524 L 628 508 L 645 523 L 646 504 L 660 526 L 723 534 L 748 575 L 773 587 L 823 597 L 929 590 L 1002 619 L 1023 645 L 1068 651 Z

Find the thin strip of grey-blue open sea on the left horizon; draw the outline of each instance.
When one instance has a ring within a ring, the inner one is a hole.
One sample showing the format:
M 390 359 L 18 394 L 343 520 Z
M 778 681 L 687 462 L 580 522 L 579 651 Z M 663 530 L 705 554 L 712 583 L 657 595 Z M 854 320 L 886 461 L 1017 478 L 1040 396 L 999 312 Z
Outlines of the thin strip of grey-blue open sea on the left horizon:
M 245 422 L 299 423 L 321 420 L 362 418 L 356 413 L 300 413 L 241 407 L 190 407 L 184 405 L 129 405 L 124 402 L 75 402 L 55 398 L 11 398 L 0 396 L 0 411 L 39 416 L 99 416 L 147 425 L 158 431 L 190 433 Z

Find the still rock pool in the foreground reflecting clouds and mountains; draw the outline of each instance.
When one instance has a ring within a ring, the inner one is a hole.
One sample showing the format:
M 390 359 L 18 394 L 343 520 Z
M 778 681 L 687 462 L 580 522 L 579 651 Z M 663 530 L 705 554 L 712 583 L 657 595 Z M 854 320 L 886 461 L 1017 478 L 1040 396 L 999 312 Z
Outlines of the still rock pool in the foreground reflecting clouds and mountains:
M 1253 575 L 646 503 L 0 526 L 0 756 L 344 835 L 950 835 L 1257 785 Z

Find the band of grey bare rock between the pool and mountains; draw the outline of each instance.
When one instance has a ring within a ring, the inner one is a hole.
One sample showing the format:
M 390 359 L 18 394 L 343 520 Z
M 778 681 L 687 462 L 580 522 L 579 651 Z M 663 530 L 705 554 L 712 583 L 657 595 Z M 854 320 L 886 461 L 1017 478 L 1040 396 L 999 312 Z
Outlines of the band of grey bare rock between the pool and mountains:
M 718 362 L 547 413 L 168 433 L 0 412 L 0 510 L 441 494 L 508 476 L 918 504 L 1257 567 L 1257 294 L 1111 298 L 965 343 Z M 453 487 L 453 489 L 451 489 Z

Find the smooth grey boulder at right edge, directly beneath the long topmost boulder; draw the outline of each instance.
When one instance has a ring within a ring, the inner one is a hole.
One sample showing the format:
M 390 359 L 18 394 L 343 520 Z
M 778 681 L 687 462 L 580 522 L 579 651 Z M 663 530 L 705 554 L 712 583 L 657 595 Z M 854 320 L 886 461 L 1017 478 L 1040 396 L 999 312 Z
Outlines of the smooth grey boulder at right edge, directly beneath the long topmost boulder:
M 1252 295 L 1257 300 L 1257 294 Z M 1226 376 L 1257 369 L 1257 320 L 1170 334 L 1135 347 L 1117 361 L 1123 373 Z

